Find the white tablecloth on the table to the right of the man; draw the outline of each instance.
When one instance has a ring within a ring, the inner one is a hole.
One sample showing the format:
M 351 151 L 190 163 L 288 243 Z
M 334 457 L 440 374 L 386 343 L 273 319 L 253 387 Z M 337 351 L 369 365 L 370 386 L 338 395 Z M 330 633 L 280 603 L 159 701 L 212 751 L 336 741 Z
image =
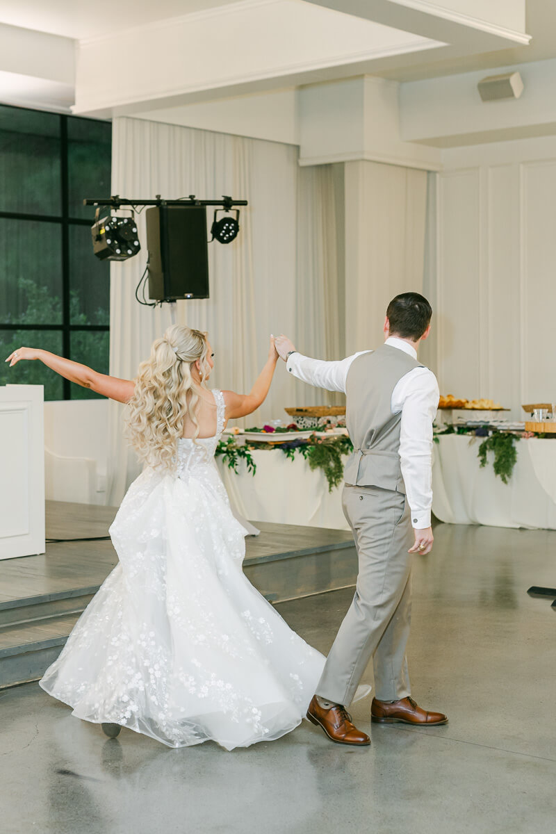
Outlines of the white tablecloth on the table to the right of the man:
M 508 484 L 481 469 L 482 438 L 439 437 L 433 452 L 433 513 L 452 524 L 556 530 L 556 440 L 519 440 Z

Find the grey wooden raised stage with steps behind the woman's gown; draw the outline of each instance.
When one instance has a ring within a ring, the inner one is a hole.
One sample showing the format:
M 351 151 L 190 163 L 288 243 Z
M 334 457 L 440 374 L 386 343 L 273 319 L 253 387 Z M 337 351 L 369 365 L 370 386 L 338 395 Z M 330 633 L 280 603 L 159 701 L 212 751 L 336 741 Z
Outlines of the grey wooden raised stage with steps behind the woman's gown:
M 37 681 L 116 565 L 108 536 L 117 508 L 47 501 L 47 550 L 0 561 L 0 688 Z M 350 533 L 253 521 L 245 574 L 272 602 L 354 585 Z M 96 539 L 83 541 L 83 539 Z

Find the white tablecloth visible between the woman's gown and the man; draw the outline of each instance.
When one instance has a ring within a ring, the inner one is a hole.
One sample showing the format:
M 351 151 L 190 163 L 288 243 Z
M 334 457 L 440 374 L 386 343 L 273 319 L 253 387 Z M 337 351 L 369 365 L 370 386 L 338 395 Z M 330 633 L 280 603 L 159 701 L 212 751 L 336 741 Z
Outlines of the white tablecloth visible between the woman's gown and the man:
M 230 502 L 247 519 L 349 530 L 342 511 L 342 486 L 328 492 L 322 470 L 310 470 L 301 455 L 289 460 L 280 450 L 253 450 L 255 476 L 239 461 L 238 475 L 217 458 Z

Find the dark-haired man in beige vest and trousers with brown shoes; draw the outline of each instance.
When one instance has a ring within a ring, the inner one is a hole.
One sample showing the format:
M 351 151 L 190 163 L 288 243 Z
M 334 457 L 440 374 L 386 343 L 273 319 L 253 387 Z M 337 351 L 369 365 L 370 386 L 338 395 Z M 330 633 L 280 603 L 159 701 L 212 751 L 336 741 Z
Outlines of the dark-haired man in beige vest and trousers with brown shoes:
M 276 339 L 290 374 L 347 395 L 354 451 L 344 472 L 343 511 L 358 551 L 357 588 L 307 714 L 340 744 L 371 743 L 347 711 L 371 657 L 376 690 L 371 721 L 414 726 L 448 721 L 413 701 L 405 655 L 411 554 L 433 548 L 431 454 L 438 383 L 417 359 L 432 314 L 422 295 L 397 295 L 386 311 L 384 344 L 338 362 L 309 359 L 286 336 Z

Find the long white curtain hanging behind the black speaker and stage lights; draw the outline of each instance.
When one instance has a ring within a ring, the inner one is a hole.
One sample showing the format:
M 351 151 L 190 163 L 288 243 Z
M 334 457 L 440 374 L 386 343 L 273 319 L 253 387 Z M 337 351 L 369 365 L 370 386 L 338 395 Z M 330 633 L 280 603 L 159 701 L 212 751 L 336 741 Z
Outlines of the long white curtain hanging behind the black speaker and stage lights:
M 141 253 L 112 264 L 110 373 L 133 379 L 153 339 L 171 324 L 208 330 L 216 366 L 211 384 L 248 391 L 268 354 L 271 333 L 286 333 L 313 356 L 338 355 L 338 264 L 333 179 L 325 166 L 299 172 L 298 148 L 193 128 L 115 118 L 112 191 L 126 198 L 162 194 L 247 198 L 238 239 L 209 245 L 210 299 L 151 309 L 135 300 L 147 261 Z M 210 226 L 211 217 L 208 218 Z M 336 317 L 336 318 L 335 318 Z M 282 363 L 268 399 L 249 425 L 287 419 L 288 405 L 326 402 L 294 382 Z M 110 404 L 109 504 L 118 504 L 138 474 L 122 437 L 123 406 Z

